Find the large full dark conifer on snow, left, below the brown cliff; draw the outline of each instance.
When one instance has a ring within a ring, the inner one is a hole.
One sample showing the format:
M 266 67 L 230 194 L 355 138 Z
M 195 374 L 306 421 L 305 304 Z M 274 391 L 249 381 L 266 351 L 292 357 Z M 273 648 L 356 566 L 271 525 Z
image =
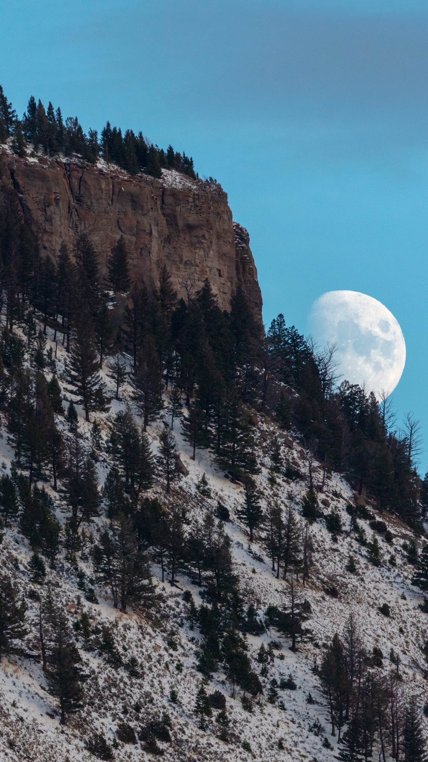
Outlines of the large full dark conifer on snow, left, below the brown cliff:
M 104 394 L 105 384 L 101 381 L 98 370 L 94 330 L 91 318 L 86 313 L 78 321 L 70 360 L 65 363 L 65 377 L 73 387 L 69 391 L 78 397 L 85 408 L 85 421 L 89 421 L 90 411 L 105 411 L 108 405 Z

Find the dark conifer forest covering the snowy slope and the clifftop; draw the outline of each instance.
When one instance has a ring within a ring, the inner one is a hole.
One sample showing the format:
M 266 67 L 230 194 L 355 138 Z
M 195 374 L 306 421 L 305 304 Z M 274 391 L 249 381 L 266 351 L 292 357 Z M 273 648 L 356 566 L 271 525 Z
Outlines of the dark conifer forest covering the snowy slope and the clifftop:
M 1 87 L 0 144 L 196 178 Z M 13 184 L 0 267 L 0 758 L 426 762 L 417 418 L 239 279 L 137 283 L 119 230 L 51 258 Z

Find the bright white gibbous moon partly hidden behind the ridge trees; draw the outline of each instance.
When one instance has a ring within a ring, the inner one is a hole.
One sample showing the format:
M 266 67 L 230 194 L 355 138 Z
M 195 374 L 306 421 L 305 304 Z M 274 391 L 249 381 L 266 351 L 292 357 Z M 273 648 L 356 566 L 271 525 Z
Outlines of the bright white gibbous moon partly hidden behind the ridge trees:
M 377 299 L 358 291 L 328 291 L 314 304 L 309 325 L 323 347 L 337 345 L 334 359 L 340 381 L 366 385 L 387 394 L 397 386 L 406 362 L 406 344 L 398 321 Z M 340 382 L 339 382 L 340 383 Z

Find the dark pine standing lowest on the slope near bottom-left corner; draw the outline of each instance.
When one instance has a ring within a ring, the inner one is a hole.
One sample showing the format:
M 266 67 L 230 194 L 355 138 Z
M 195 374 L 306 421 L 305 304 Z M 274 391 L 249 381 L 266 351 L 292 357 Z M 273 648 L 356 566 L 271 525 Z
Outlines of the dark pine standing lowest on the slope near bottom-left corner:
M 81 708 L 81 656 L 75 643 L 69 639 L 65 623 L 59 623 L 53 639 L 53 648 L 48 661 L 46 679 L 50 693 L 59 699 L 61 725 L 65 725 L 65 715 Z

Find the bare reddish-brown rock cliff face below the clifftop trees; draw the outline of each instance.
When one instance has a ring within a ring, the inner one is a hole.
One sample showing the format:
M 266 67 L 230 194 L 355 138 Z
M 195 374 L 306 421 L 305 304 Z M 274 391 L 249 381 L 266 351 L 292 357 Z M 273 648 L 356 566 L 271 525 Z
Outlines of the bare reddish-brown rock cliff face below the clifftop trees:
M 261 320 L 262 299 L 248 232 L 232 222 L 221 187 L 165 171 L 161 180 L 135 178 L 119 168 L 58 158 L 18 158 L 3 150 L 0 191 L 13 185 L 21 206 L 54 258 L 65 242 L 88 233 L 104 274 L 110 249 L 126 239 L 133 281 L 158 285 L 163 264 L 186 296 L 208 277 L 219 306 L 228 309 L 238 282 Z

